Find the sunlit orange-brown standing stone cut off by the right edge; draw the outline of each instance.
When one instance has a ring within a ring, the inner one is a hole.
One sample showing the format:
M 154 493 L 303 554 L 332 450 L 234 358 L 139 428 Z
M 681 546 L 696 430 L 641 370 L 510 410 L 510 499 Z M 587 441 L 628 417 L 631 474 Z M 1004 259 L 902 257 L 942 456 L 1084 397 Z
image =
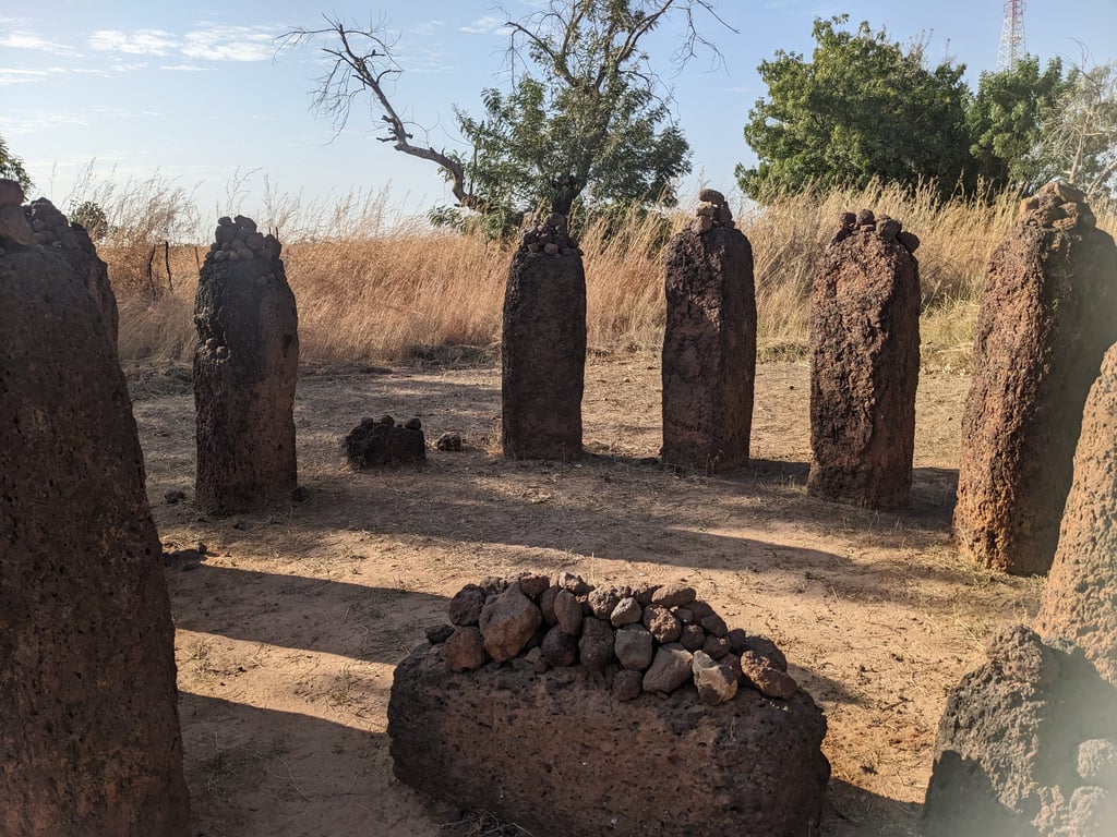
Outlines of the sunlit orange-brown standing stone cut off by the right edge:
M 1117 346 L 1090 389 L 1075 480 L 1035 629 L 1069 639 L 1117 685 Z

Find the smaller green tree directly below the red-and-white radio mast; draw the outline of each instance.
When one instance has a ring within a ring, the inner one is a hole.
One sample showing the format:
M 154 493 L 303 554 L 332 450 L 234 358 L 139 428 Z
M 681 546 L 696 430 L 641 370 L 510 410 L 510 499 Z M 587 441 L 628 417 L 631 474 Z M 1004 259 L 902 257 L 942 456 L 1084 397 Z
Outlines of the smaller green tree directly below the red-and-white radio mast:
M 1053 176 L 1041 154 L 1042 132 L 1057 117 L 1068 83 L 1058 58 L 1040 70 L 1028 56 L 1011 69 L 982 73 L 966 109 L 974 173 L 996 189 L 1030 193 Z

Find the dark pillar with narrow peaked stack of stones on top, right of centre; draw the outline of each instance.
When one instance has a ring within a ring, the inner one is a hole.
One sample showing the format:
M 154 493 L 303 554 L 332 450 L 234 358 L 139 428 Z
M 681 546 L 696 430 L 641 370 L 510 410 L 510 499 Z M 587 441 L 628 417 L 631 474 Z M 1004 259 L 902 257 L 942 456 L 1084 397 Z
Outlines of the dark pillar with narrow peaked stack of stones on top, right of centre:
M 728 471 L 748 462 L 753 425 L 753 250 L 720 192 L 698 200 L 698 218 L 667 247 L 661 456 Z

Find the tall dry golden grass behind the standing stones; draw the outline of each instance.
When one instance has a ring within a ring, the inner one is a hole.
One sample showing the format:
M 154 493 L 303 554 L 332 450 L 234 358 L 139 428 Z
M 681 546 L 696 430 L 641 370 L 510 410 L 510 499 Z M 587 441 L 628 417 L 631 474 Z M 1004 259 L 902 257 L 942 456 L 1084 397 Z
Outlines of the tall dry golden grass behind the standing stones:
M 113 232 L 99 248 L 121 306 L 122 357 L 185 360 L 193 349 L 193 295 L 204 248 L 179 243 L 166 258 L 162 250 L 153 261 L 149 257 L 174 230 L 197 223 L 197 209 L 159 181 L 139 191 L 106 205 Z M 285 240 L 303 358 L 495 357 L 513 246 L 421 222 L 391 225 L 385 204 L 383 193 L 344 195 L 330 205 L 305 206 L 274 194 L 266 201 L 267 217 L 257 220 Z M 930 189 L 913 193 L 888 185 L 785 195 L 763 211 L 741 213 L 755 259 L 760 357 L 805 355 L 818 260 L 839 214 L 859 209 L 889 214 L 920 238 L 924 363 L 966 368 L 989 257 L 1011 228 L 1016 202 L 999 196 L 944 204 Z M 1111 208 L 1098 215 L 1102 229 L 1117 230 Z M 682 213 L 633 214 L 619 225 L 594 223 L 582 231 L 592 350 L 661 345 L 663 247 L 686 222 Z

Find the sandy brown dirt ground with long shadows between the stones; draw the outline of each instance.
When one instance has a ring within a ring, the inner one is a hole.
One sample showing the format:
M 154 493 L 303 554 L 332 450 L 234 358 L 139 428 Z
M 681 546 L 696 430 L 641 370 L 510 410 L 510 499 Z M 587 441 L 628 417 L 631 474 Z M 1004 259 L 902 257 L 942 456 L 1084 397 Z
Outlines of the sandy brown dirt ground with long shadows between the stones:
M 295 406 L 307 499 L 226 520 L 193 493 L 189 369 L 130 373 L 176 624 L 198 837 L 481 834 L 395 781 L 394 663 L 487 575 L 685 580 L 731 627 L 765 634 L 822 706 L 833 768 L 824 835 L 914 834 L 946 691 L 1037 580 L 967 566 L 948 528 L 968 378 L 924 373 L 909 509 L 806 496 L 805 364 L 757 372 L 753 462 L 709 478 L 640 464 L 660 444 L 659 359 L 592 358 L 576 463 L 498 455 L 498 368 L 306 368 Z M 355 473 L 341 437 L 419 416 L 424 468 Z M 461 453 L 432 446 L 445 431 Z M 181 502 L 166 494 L 185 492 Z M 457 824 L 457 825 L 455 825 Z

